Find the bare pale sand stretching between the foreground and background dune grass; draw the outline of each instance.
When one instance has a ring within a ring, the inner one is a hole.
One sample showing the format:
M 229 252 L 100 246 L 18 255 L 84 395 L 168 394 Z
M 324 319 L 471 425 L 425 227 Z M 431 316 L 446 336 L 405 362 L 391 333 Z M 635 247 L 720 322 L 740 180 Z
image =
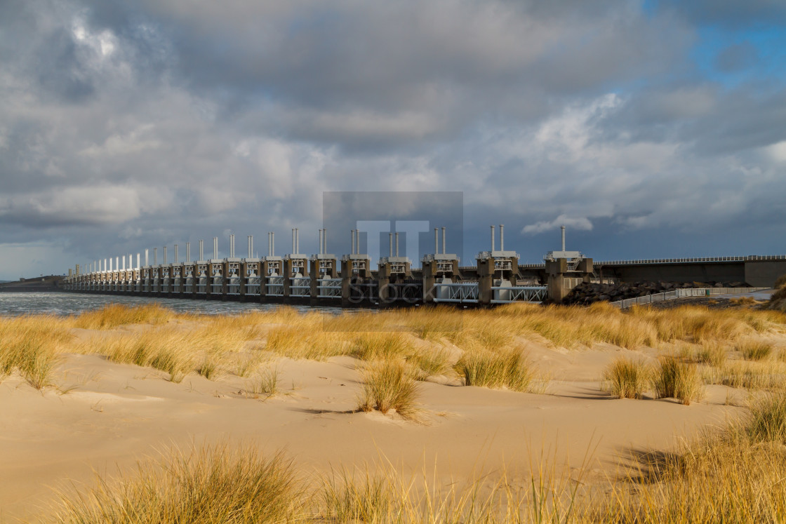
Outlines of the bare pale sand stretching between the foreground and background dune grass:
M 504 470 L 529 482 L 545 456 L 601 484 L 632 452 L 674 449 L 743 412 L 728 405 L 735 390 L 720 386 L 689 406 L 619 400 L 601 390 L 604 367 L 621 352 L 649 359 L 652 350 L 530 347 L 538 372 L 550 378 L 542 394 L 437 378 L 421 383 L 421 422 L 354 412 L 362 376 L 351 357 L 277 360 L 281 393 L 265 399 L 244 393 L 251 379 L 191 373 L 171 383 L 152 368 L 69 354 L 55 373 L 57 388 L 41 392 L 19 376 L 0 382 L 0 521 L 50 515 L 56 489 L 90 485 L 96 473 L 132 472 L 138 460 L 172 445 L 204 442 L 285 450 L 307 473 L 387 461 L 405 474 L 435 467 L 445 479 Z M 741 402 L 744 394 L 736 395 Z

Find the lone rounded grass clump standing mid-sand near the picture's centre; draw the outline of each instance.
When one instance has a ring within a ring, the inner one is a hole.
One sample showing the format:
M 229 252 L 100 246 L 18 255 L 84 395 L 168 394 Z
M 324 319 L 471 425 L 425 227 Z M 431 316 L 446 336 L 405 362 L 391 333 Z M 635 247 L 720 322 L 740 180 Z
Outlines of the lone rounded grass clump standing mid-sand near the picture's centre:
M 387 413 L 395 409 L 405 418 L 417 414 L 417 382 L 408 365 L 400 361 L 375 362 L 366 369 L 364 379 L 359 410 Z

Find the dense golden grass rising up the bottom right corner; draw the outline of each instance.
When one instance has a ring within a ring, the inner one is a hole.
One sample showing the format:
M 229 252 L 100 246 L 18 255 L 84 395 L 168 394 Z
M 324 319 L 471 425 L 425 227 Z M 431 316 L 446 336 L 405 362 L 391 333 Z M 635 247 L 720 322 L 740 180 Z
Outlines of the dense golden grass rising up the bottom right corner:
M 751 414 L 722 431 L 648 453 L 579 512 L 595 522 L 786 521 L 786 395 L 751 402 Z M 631 486 L 635 486 L 632 489 Z

